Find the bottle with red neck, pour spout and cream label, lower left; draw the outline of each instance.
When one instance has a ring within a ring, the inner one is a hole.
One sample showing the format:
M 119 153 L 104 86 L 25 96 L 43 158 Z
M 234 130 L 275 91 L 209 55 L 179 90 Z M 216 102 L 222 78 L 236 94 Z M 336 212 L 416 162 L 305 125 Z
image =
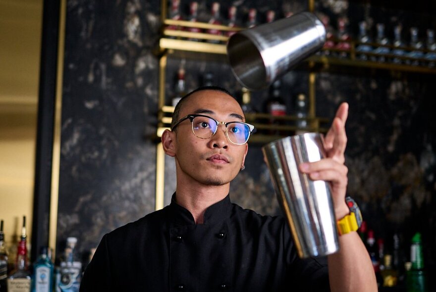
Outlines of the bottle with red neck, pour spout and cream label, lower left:
M 8 292 L 30 291 L 30 273 L 27 270 L 27 246 L 26 246 L 26 216 L 23 216 L 21 228 L 21 240 L 17 248 L 17 260 L 15 270 L 7 277 Z

